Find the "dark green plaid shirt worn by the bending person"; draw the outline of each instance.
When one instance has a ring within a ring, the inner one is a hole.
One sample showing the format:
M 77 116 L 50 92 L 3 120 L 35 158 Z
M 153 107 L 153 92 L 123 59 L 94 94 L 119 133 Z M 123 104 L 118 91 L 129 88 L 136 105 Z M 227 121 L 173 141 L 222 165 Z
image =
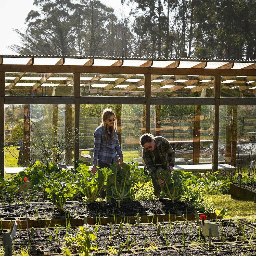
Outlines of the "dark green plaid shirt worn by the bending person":
M 170 166 L 170 165 L 174 166 L 176 154 L 173 151 L 173 148 L 170 145 L 170 143 L 166 140 L 166 138 L 164 138 L 162 136 L 156 136 L 153 138 L 153 140 L 155 141 L 155 143 L 157 145 L 156 150 L 159 154 L 161 162 L 164 165 L 164 168 L 167 169 L 168 166 Z M 156 178 L 157 168 L 155 165 L 155 156 L 152 153 L 152 151 L 145 150 L 143 148 L 142 159 L 145 163 L 145 166 L 146 166 L 148 172 L 151 174 L 151 176 Z

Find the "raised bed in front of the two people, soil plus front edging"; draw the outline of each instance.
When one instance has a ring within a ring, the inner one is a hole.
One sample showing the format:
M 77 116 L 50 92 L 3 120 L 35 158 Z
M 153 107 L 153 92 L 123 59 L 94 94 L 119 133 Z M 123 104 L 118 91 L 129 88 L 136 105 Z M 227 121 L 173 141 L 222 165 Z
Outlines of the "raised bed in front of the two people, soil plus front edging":
M 84 201 L 68 201 L 64 207 L 65 212 L 59 211 L 51 202 L 31 202 L 27 209 L 29 227 L 54 227 L 55 224 L 83 225 L 84 218 L 87 223 L 94 225 L 100 220 L 101 224 L 115 223 L 116 221 L 134 222 L 135 215 L 140 214 L 142 222 L 195 220 L 195 214 L 184 202 L 173 204 L 170 200 L 149 201 L 102 201 L 85 203 Z M 0 218 L 3 228 L 8 228 L 11 220 L 20 218 L 22 227 L 26 227 L 24 204 L 0 205 Z M 206 214 L 208 219 L 215 219 L 216 214 Z

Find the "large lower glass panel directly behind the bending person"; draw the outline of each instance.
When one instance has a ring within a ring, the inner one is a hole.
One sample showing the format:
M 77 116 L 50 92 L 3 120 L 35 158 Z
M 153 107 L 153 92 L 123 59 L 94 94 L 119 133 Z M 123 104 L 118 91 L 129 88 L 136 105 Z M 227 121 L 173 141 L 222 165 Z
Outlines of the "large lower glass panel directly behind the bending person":
M 211 163 L 213 105 L 151 105 L 151 125 L 172 145 L 175 165 Z

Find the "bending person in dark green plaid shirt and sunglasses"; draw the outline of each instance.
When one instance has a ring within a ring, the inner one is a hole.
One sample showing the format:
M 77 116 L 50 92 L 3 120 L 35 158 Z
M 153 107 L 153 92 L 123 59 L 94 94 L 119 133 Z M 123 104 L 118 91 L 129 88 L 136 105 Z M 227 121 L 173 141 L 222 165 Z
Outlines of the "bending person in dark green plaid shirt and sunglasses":
M 150 133 L 143 134 L 140 137 L 140 144 L 143 146 L 142 159 L 150 173 L 154 195 L 159 198 L 160 185 L 164 185 L 164 181 L 158 178 L 158 183 L 160 184 L 158 185 L 156 182 L 156 170 L 162 167 L 163 169 L 173 171 L 176 154 L 170 143 L 162 136 L 153 137 Z

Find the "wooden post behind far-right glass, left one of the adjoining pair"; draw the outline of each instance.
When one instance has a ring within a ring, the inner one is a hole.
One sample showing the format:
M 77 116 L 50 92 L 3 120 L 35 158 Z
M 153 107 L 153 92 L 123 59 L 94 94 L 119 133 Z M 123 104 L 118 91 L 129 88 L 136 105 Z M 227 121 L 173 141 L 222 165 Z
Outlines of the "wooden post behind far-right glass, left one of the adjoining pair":
M 226 150 L 225 158 L 228 164 L 231 163 L 231 137 L 232 137 L 232 105 L 226 107 Z

